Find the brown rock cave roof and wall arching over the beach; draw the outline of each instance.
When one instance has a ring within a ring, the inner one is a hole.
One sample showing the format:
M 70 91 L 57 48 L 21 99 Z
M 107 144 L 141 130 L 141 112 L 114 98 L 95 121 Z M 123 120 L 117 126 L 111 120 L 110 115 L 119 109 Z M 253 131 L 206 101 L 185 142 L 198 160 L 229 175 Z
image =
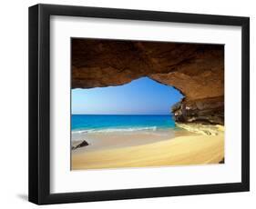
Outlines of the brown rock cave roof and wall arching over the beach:
M 224 124 L 224 45 L 73 38 L 71 53 L 72 88 L 148 76 L 184 95 L 177 122 Z

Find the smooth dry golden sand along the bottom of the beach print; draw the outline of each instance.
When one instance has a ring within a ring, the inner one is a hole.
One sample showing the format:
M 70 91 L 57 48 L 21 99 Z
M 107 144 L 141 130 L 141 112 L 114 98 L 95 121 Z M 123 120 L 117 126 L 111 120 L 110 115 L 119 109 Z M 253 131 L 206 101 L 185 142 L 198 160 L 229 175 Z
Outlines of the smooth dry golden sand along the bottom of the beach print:
M 185 164 L 218 164 L 224 134 L 178 136 L 151 144 L 72 153 L 72 170 Z

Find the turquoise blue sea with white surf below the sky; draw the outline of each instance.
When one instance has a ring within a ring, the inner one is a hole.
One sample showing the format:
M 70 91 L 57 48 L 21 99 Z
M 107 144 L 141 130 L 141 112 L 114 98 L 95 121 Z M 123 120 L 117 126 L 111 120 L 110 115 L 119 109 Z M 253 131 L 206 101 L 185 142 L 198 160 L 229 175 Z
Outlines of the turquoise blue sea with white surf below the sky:
M 72 114 L 72 133 L 131 132 L 175 128 L 172 115 Z

